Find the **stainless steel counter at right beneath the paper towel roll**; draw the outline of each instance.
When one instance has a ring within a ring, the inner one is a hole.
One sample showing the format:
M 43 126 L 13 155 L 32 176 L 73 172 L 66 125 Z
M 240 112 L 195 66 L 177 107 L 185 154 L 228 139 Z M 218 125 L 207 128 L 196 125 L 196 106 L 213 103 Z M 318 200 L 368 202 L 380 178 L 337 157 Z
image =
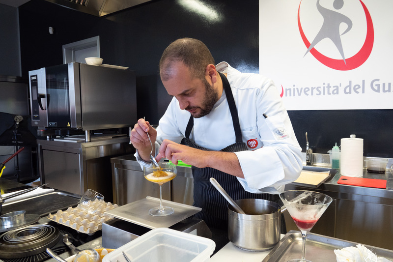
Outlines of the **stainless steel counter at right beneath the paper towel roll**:
M 392 159 L 388 166 L 391 164 Z M 329 167 L 326 163 L 317 165 Z M 338 184 L 340 177 L 338 170 L 336 175 L 318 188 L 291 183 L 285 186 L 285 190 L 313 190 L 333 198 L 333 203 L 311 232 L 392 249 L 393 174 L 388 170 L 385 174 L 374 174 L 364 169 L 364 178 L 386 179 L 386 189 Z M 285 221 L 288 231 L 297 230 L 291 218 Z

